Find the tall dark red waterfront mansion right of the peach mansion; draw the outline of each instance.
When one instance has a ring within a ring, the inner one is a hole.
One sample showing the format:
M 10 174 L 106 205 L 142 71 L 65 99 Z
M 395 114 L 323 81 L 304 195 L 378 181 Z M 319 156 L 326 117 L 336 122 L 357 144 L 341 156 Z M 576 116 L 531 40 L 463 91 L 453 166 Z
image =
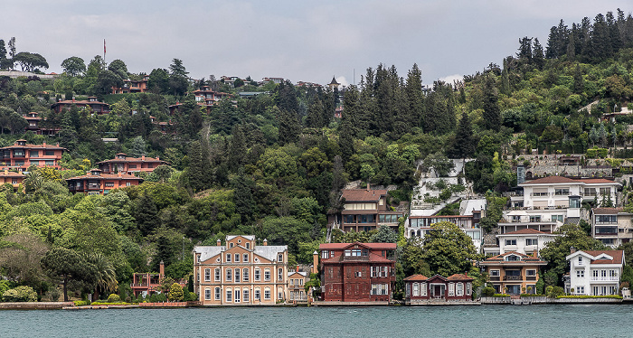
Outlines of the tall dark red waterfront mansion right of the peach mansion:
M 323 301 L 389 302 L 395 283 L 395 249 L 395 243 L 319 245 Z

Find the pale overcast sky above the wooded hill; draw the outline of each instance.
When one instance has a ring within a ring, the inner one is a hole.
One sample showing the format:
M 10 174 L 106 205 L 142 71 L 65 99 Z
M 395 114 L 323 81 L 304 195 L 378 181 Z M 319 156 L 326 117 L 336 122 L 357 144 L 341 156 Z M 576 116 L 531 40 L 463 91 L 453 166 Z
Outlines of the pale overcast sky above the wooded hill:
M 48 72 L 61 61 L 95 55 L 120 59 L 149 73 L 181 59 L 196 79 L 213 74 L 253 80 L 281 77 L 344 84 L 368 67 L 413 63 L 424 83 L 460 79 L 501 64 L 518 39 L 547 44 L 549 29 L 596 14 L 626 14 L 630 0 L 288 0 L 288 1 L 5 1 L 0 39 L 14 36 L 17 52 L 38 52 Z M 354 71 L 355 70 L 355 71 Z M 355 76 L 354 76 L 355 72 Z

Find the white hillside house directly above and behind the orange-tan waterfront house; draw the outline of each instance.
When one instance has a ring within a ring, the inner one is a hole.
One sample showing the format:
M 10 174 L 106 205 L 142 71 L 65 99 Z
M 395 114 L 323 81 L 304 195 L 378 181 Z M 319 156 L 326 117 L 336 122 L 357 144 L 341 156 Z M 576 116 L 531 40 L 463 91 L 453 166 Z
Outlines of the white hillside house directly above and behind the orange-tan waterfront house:
M 524 255 L 533 255 L 534 252 L 541 252 L 545 244 L 555 239 L 556 236 L 553 233 L 534 229 L 517 230 L 496 235 L 499 240 L 499 253 L 497 255 L 503 255 L 511 251 Z

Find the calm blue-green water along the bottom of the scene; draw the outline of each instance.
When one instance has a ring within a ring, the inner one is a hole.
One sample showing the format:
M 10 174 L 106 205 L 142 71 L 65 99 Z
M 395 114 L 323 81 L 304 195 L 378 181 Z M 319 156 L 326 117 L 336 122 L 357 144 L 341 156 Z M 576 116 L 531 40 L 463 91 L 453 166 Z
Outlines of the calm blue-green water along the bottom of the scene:
M 0 337 L 633 337 L 629 305 L 0 311 Z

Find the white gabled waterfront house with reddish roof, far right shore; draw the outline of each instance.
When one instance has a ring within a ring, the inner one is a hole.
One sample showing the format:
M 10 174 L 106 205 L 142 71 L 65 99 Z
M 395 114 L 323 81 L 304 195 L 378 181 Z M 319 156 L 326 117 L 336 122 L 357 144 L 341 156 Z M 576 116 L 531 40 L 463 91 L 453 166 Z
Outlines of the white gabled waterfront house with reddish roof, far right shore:
M 624 268 L 623 250 L 574 250 L 566 257 L 570 262 L 572 295 L 618 295 L 619 278 Z

